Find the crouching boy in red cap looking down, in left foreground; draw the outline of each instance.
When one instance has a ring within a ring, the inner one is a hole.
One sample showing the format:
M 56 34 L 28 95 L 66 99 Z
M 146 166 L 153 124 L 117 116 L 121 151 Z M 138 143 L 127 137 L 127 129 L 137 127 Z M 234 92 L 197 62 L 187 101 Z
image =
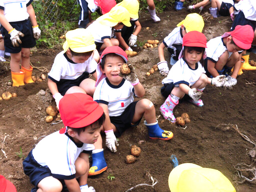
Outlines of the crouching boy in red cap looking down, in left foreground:
M 72 93 L 60 100 L 59 112 L 66 128 L 39 141 L 23 161 L 24 173 L 35 185 L 31 191 L 95 192 L 87 185 L 89 153 L 105 120 L 103 109 L 90 96 Z

